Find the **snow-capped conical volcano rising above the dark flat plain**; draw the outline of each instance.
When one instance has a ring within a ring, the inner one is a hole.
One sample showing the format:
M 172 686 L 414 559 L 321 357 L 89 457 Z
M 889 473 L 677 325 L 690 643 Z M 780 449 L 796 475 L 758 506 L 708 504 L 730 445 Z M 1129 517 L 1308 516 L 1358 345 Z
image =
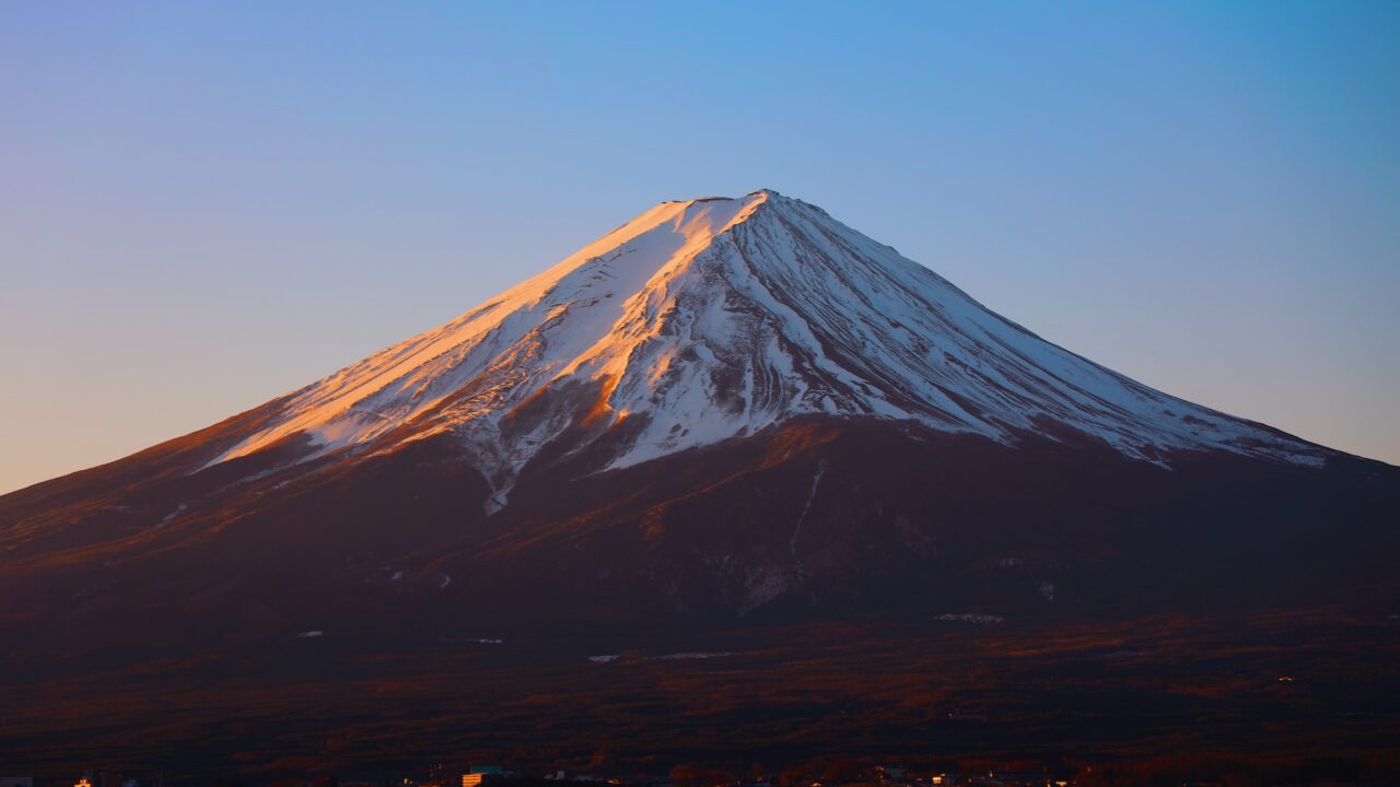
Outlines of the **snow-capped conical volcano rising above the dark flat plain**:
M 76 675 L 302 640 L 582 664 L 657 632 L 1375 616 L 1397 503 L 1396 468 L 1154 391 L 759 190 L 658 204 L 300 391 L 0 497 L 0 636 L 11 674 Z

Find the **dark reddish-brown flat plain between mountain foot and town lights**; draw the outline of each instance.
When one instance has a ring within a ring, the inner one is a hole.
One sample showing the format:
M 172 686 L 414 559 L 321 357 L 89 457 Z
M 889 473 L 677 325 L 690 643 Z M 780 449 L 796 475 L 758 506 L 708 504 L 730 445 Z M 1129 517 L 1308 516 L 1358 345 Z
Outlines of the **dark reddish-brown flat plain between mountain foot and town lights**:
M 1337 611 L 472 634 L 385 651 L 328 630 L 120 669 L 11 664 L 0 760 L 252 780 L 444 759 L 665 774 L 818 755 L 1364 759 L 1400 737 L 1400 622 Z

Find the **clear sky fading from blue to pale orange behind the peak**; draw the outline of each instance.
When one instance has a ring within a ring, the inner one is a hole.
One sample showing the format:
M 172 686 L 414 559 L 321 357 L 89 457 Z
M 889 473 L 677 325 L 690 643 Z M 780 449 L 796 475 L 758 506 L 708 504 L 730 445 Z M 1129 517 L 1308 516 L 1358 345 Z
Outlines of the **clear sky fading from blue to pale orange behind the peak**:
M 771 188 L 1400 464 L 1400 3 L 0 3 L 0 492 Z

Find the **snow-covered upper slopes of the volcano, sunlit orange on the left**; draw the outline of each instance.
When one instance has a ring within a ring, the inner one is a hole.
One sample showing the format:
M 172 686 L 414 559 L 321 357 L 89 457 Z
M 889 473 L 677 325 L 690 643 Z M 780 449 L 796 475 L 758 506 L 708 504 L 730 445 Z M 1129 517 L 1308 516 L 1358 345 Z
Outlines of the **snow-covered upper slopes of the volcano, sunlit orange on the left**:
M 518 408 L 552 395 L 594 401 L 503 433 Z M 580 419 L 640 419 L 612 448 L 612 466 L 626 466 L 811 413 L 1002 443 L 1068 427 L 1158 464 L 1182 450 L 1326 457 L 1081 358 L 822 209 L 759 190 L 658 204 L 452 322 L 295 392 L 217 461 L 298 433 L 319 454 L 454 433 L 504 504 L 519 468 Z

